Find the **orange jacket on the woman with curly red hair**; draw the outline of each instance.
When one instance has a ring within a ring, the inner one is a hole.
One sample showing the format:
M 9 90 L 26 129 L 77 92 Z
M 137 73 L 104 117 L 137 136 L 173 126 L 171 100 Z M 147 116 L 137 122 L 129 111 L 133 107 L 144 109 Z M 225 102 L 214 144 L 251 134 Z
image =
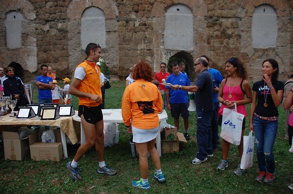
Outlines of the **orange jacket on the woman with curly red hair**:
M 122 117 L 126 126 L 153 129 L 159 126 L 158 113 L 162 108 L 163 98 L 155 84 L 138 79 L 126 87 L 122 97 Z

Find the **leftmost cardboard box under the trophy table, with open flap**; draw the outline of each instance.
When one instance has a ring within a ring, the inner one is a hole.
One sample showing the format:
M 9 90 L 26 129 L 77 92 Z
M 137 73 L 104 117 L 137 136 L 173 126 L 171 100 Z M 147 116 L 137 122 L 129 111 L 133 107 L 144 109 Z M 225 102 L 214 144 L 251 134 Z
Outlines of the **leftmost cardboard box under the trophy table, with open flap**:
M 20 139 L 18 128 L 3 131 L 4 158 L 10 160 L 23 160 L 29 155 L 29 146 L 39 138 L 35 132 L 28 137 Z

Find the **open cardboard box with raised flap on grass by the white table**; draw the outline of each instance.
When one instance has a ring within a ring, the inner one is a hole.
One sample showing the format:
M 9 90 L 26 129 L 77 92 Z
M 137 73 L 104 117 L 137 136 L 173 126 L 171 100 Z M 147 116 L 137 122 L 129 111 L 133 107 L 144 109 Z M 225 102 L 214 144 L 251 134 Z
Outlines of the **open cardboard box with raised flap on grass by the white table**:
M 179 152 L 179 141 L 187 143 L 182 133 L 177 133 L 177 138 L 175 140 L 162 140 L 162 154 Z

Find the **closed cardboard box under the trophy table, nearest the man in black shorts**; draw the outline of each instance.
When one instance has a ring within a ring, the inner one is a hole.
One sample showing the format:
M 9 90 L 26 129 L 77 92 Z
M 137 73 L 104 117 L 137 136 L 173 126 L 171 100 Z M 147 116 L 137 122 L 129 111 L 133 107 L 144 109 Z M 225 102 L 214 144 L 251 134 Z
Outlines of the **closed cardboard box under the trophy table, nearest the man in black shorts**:
M 36 142 L 30 145 L 31 158 L 35 161 L 53 160 L 55 162 L 63 159 L 62 143 Z

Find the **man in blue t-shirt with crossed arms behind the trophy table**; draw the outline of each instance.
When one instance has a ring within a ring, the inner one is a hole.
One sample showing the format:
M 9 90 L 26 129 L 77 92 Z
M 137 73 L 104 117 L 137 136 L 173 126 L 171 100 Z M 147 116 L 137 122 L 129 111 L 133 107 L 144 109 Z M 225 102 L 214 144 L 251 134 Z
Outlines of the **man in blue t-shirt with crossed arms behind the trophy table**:
M 36 78 L 36 84 L 39 91 L 39 103 L 52 103 L 51 88 L 53 85 L 53 78 L 47 76 L 48 65 L 41 65 L 41 76 Z

